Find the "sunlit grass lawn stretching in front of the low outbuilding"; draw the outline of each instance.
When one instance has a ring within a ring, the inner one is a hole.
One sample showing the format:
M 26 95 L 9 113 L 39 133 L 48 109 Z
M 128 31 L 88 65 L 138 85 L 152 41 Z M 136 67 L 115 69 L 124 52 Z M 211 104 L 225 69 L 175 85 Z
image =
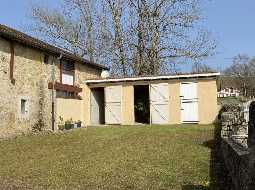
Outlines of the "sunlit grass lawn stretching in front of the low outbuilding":
M 0 141 L 0 189 L 209 189 L 214 126 L 77 129 Z

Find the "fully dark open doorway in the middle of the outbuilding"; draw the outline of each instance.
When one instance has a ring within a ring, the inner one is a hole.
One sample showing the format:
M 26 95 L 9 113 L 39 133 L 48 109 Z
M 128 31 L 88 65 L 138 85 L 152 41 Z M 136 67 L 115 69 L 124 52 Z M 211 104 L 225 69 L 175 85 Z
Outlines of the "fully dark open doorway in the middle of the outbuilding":
M 135 122 L 150 123 L 149 85 L 134 86 Z

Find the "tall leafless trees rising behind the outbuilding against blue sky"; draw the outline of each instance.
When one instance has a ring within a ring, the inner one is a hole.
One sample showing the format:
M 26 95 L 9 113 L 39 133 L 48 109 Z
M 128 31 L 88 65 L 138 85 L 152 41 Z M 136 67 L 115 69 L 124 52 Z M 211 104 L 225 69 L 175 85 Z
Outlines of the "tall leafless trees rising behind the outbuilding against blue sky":
M 34 31 L 44 40 L 113 75 L 176 72 L 181 62 L 210 56 L 215 43 L 198 25 L 200 0 L 62 0 L 61 9 L 32 7 Z

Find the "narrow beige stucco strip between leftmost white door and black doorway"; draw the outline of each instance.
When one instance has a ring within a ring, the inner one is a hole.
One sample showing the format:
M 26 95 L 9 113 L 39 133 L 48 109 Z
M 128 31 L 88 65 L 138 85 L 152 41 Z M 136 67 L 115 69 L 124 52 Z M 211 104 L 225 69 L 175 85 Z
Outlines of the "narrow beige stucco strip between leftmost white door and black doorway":
M 134 86 L 122 86 L 122 125 L 134 125 Z

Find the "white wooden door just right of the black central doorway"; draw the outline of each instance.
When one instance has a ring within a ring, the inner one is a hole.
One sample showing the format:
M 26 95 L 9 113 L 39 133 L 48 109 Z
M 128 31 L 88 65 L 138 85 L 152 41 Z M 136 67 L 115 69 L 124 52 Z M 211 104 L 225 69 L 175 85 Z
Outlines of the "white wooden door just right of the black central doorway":
M 152 124 L 169 123 L 169 85 L 159 83 L 150 85 Z

